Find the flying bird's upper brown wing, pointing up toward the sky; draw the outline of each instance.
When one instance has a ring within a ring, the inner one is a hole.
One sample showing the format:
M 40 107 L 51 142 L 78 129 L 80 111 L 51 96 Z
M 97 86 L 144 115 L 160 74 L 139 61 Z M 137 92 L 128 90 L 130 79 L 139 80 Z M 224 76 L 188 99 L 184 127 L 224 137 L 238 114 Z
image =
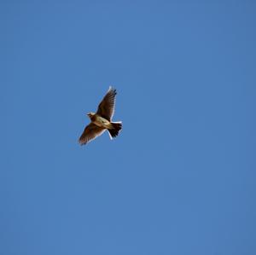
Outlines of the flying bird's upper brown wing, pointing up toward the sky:
M 111 121 L 114 113 L 115 95 L 116 90 L 110 86 L 106 96 L 104 96 L 97 109 L 97 114 L 109 121 Z

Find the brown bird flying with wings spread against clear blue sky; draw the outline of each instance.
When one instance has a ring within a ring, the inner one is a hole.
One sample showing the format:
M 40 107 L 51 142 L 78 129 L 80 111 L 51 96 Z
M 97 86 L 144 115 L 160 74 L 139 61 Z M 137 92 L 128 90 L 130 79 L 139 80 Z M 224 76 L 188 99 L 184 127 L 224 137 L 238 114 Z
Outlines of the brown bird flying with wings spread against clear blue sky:
M 112 121 L 116 94 L 116 90 L 109 86 L 108 92 L 98 105 L 96 113 L 87 113 L 87 116 L 90 118 L 90 124 L 84 128 L 83 134 L 79 137 L 80 145 L 96 139 L 105 130 L 108 130 L 111 140 L 119 135 L 119 131 L 122 129 L 122 121 Z

